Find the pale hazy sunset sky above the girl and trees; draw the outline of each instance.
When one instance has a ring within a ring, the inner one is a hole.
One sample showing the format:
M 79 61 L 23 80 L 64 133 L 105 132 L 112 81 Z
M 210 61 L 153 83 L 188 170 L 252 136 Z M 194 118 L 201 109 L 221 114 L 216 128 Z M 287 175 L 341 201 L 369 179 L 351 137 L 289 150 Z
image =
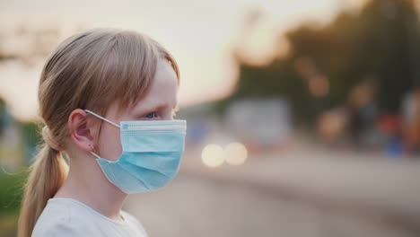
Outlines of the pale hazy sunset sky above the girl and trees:
M 278 32 L 302 21 L 328 22 L 340 9 L 355 9 L 362 3 L 363 0 L 0 0 L 0 29 L 59 28 L 61 40 L 78 26 L 142 31 L 161 42 L 177 59 L 182 108 L 218 100 L 232 92 L 238 78 L 232 48 L 241 47 L 251 63 L 267 62 L 276 52 L 273 45 Z M 263 17 L 249 29 L 245 22 L 252 9 L 258 9 Z M 44 63 L 41 58 L 30 67 L 17 61 L 0 64 L 0 96 L 19 119 L 37 115 L 37 87 Z

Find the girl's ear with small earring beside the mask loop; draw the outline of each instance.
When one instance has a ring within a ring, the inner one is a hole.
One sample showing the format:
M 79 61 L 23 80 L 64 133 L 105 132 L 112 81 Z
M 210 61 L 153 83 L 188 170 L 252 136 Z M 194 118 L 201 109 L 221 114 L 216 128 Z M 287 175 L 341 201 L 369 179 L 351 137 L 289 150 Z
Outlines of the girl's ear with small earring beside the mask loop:
M 73 110 L 68 117 L 67 126 L 74 144 L 89 152 L 93 150 L 95 127 L 92 127 L 92 121 L 89 122 L 86 115 L 84 110 Z

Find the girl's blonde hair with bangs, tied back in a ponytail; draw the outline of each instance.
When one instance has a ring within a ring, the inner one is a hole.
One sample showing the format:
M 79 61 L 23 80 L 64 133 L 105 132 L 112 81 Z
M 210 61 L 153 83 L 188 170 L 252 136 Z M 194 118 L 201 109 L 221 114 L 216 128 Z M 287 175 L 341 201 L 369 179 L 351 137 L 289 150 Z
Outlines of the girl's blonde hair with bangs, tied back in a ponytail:
M 104 115 L 113 101 L 118 101 L 119 110 L 129 109 L 148 92 L 158 58 L 167 59 L 179 78 L 171 54 L 136 31 L 84 31 L 64 40 L 51 53 L 40 75 L 38 92 L 46 143 L 30 166 L 19 237 L 31 236 L 48 199 L 66 180 L 68 165 L 62 151 L 69 136 L 66 123 L 70 113 L 81 108 Z

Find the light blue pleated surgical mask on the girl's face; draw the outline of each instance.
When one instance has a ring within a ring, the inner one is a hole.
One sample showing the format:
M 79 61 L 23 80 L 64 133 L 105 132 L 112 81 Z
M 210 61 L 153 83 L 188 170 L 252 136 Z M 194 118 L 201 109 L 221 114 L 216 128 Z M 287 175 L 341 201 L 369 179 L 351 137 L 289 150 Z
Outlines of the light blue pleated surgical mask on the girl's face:
M 118 125 L 90 110 L 85 111 L 120 129 L 122 154 L 118 161 L 91 153 L 97 157 L 107 179 L 123 192 L 160 189 L 178 173 L 186 120 L 121 121 Z

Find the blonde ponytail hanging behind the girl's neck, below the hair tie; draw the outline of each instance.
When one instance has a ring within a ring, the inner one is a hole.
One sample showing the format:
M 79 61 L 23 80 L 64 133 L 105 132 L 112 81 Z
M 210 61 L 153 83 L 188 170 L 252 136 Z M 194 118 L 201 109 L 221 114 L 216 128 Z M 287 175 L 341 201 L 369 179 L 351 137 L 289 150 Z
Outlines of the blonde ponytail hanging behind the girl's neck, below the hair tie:
M 30 166 L 22 198 L 18 237 L 30 237 L 39 215 L 66 180 L 68 165 L 61 152 L 45 144 Z

